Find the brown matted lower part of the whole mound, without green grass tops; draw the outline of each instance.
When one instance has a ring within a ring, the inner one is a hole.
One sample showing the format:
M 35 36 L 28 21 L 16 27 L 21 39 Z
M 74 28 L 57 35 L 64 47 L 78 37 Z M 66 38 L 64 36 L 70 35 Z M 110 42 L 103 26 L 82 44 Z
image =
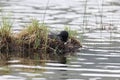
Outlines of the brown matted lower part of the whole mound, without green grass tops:
M 32 55 L 36 52 L 41 54 L 59 54 L 75 52 L 82 47 L 80 42 L 71 37 L 68 42 L 64 43 L 58 39 L 52 39 L 47 35 L 47 38 L 37 37 L 33 34 L 19 33 L 17 36 L 1 37 L 0 51 L 1 53 L 22 53 L 24 56 Z

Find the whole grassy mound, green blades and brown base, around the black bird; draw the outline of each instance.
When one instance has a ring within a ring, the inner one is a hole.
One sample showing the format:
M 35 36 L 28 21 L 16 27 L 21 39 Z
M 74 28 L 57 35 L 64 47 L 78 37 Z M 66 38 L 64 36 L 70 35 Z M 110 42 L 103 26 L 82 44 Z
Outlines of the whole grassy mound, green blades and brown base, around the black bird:
M 34 55 L 37 55 L 37 57 L 43 58 L 51 55 L 65 55 L 81 47 L 80 42 L 72 35 L 75 32 L 67 28 L 68 41 L 62 42 L 58 38 L 51 38 L 47 26 L 40 24 L 35 19 L 27 24 L 24 30 L 14 35 L 11 27 L 12 25 L 3 19 L 0 27 L 0 51 L 2 53 L 15 52 L 20 53 L 19 55 L 23 57 L 33 58 Z

